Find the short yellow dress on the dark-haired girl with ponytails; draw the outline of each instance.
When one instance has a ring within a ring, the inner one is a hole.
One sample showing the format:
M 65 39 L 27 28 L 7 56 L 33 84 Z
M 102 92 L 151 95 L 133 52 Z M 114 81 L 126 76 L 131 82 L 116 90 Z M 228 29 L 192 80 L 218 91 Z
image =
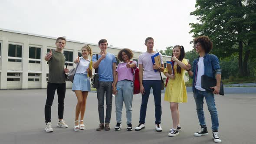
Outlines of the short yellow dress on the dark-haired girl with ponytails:
M 182 62 L 187 65 L 187 59 L 183 59 Z M 184 82 L 185 70 L 181 68 L 181 73 L 177 73 L 176 69 L 177 65 L 174 65 L 175 79 L 169 79 L 164 93 L 164 101 L 187 102 L 187 89 Z M 168 72 L 167 67 L 164 69 L 165 72 Z

